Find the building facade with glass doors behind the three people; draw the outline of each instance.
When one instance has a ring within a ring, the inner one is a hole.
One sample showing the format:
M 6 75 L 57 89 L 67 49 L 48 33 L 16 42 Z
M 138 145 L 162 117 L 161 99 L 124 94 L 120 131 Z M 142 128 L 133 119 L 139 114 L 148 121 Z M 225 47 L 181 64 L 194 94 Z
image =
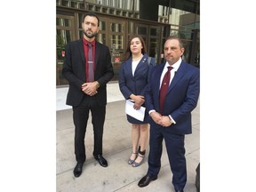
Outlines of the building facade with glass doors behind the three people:
M 199 0 L 56 0 L 56 85 L 67 85 L 61 76 L 65 45 L 83 36 L 86 12 L 100 18 L 97 40 L 106 44 L 118 80 L 129 36 L 139 34 L 147 44 L 148 55 L 160 63 L 164 38 L 180 36 L 186 52 L 183 59 L 199 67 Z

